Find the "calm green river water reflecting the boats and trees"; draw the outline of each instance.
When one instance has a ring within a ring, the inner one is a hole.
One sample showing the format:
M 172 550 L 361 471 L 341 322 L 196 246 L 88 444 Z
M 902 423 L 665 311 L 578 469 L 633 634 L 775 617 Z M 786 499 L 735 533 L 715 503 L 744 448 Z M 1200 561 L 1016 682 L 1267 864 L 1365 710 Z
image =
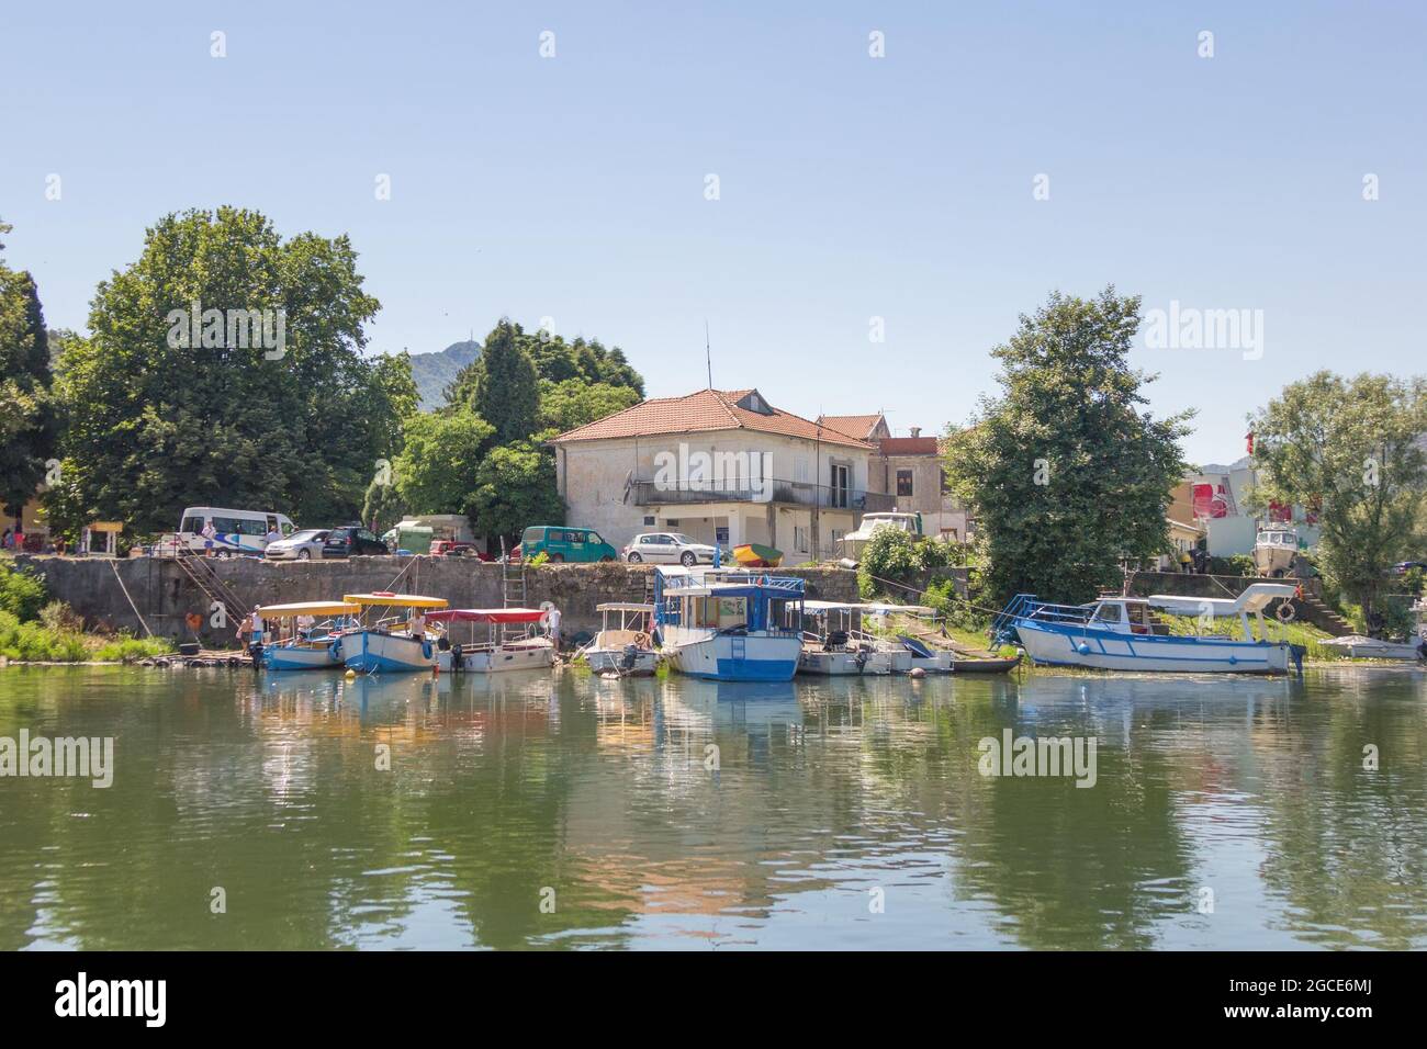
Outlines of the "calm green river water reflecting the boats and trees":
M 982 775 L 1006 728 L 1095 785 Z M 1427 946 L 1414 669 L 3 669 L 21 729 L 116 769 L 0 779 L 0 949 Z

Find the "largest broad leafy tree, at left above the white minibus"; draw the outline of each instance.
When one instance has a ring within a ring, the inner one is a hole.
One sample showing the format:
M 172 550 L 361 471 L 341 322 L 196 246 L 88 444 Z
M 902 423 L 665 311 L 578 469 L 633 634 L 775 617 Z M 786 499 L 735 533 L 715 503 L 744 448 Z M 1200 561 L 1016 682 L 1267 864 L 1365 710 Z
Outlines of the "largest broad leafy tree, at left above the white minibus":
M 213 325 L 188 330 L 194 303 L 220 311 Z M 271 310 L 273 335 L 283 311 L 284 345 L 243 347 L 223 324 L 233 310 Z M 231 207 L 160 218 L 60 358 L 64 501 L 136 532 L 198 504 L 354 517 L 417 397 L 405 355 L 362 355 L 377 310 L 345 235 L 283 240 Z

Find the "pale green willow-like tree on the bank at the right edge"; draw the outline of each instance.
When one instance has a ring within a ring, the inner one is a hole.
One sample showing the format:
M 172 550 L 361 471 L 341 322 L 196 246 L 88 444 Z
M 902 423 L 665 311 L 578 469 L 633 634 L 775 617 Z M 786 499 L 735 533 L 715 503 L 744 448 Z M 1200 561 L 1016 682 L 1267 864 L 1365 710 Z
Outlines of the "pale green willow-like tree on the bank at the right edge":
M 1314 508 L 1320 569 L 1371 614 L 1387 569 L 1427 549 L 1427 380 L 1320 371 L 1284 387 L 1250 427 L 1253 502 Z

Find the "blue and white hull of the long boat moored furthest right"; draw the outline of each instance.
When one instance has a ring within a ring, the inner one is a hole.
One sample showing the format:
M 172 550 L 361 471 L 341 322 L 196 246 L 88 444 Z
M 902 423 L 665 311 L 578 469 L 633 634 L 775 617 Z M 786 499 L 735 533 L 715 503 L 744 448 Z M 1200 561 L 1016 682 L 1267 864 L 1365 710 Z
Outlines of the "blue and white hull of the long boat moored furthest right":
M 1169 674 L 1286 674 L 1287 642 L 1184 638 L 1062 627 L 1017 618 L 1016 634 L 1033 662 L 1103 671 Z

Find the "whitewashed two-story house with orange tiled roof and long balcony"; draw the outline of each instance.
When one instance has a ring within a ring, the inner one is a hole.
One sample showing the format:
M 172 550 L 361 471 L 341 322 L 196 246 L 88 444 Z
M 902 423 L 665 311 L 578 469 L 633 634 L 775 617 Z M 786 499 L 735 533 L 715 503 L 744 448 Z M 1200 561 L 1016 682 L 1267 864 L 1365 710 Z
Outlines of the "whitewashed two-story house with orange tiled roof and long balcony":
M 679 531 L 732 548 L 761 542 L 783 564 L 839 557 L 838 539 L 869 510 L 876 447 L 781 411 L 756 390 L 662 397 L 552 441 L 567 521 L 622 547 Z

